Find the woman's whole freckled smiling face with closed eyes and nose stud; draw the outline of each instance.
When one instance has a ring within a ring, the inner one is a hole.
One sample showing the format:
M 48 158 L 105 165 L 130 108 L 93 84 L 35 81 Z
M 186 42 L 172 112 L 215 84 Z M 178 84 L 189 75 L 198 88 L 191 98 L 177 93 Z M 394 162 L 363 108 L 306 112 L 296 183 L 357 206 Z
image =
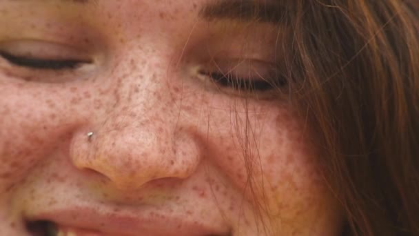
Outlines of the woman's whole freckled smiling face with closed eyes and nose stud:
M 286 28 L 239 2 L 1 1 L 0 235 L 336 235 Z

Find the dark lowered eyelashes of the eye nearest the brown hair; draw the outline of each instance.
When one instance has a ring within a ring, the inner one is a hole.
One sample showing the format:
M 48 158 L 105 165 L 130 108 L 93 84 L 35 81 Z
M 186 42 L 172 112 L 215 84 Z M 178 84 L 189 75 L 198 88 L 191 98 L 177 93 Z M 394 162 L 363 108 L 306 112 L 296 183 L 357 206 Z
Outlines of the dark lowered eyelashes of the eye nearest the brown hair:
M 233 88 L 236 90 L 257 90 L 267 91 L 278 86 L 285 86 L 285 79 L 276 79 L 269 81 L 265 79 L 245 79 L 240 77 L 234 77 L 234 75 L 225 75 L 220 72 L 207 72 L 203 73 L 208 77 L 211 77 L 218 85 L 225 88 Z

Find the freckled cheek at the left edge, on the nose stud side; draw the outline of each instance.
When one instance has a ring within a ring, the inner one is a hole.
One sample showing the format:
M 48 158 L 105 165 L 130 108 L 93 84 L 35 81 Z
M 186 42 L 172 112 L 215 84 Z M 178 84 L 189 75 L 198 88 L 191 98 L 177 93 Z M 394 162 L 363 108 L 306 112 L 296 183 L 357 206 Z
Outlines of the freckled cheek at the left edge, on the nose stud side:
M 83 119 L 79 112 L 83 109 L 70 109 L 79 95 L 50 85 L 9 81 L 0 86 L 0 94 L 1 194 L 68 141 L 71 130 Z

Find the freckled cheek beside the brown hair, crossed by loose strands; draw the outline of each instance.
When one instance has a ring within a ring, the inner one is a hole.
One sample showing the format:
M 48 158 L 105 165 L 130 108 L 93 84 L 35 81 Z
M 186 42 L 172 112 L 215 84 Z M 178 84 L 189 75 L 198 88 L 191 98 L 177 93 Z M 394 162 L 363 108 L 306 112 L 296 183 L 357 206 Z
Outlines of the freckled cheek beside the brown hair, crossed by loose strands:
M 209 158 L 226 181 L 250 203 L 263 204 L 268 215 L 288 225 L 312 221 L 330 196 L 304 121 L 287 106 L 238 104 L 209 109 L 209 125 L 201 130 Z

